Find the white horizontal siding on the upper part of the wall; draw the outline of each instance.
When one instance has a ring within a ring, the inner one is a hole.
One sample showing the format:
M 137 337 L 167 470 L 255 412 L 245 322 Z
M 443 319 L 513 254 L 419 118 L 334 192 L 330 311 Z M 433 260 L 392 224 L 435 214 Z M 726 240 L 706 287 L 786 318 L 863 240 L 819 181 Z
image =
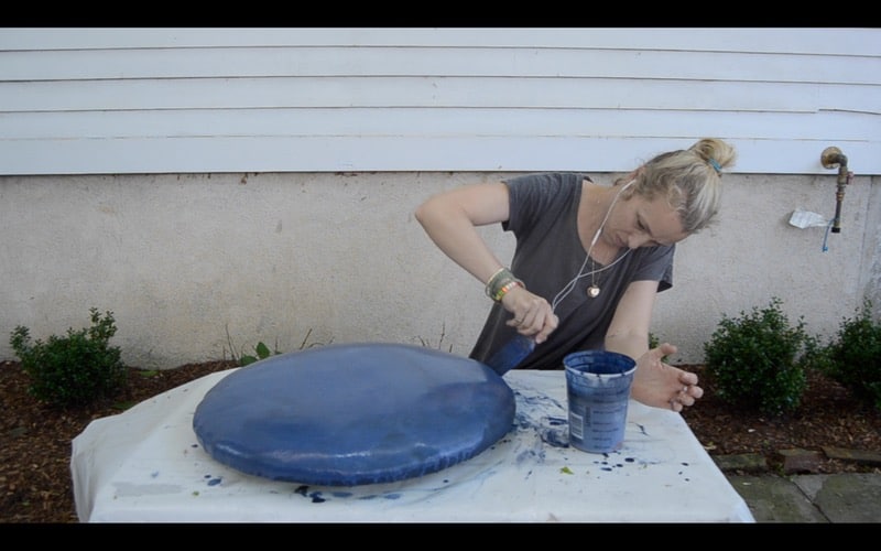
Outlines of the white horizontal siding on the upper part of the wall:
M 6 29 L 0 174 L 881 173 L 877 29 Z

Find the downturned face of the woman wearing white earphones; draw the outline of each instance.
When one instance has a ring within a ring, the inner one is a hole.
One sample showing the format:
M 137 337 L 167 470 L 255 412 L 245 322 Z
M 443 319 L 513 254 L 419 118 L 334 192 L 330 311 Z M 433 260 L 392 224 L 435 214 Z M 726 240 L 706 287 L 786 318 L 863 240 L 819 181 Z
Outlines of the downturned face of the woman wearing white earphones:
M 619 202 L 602 231 L 607 244 L 628 249 L 673 245 L 686 237 L 679 215 L 665 197 L 650 202 L 637 194 Z

